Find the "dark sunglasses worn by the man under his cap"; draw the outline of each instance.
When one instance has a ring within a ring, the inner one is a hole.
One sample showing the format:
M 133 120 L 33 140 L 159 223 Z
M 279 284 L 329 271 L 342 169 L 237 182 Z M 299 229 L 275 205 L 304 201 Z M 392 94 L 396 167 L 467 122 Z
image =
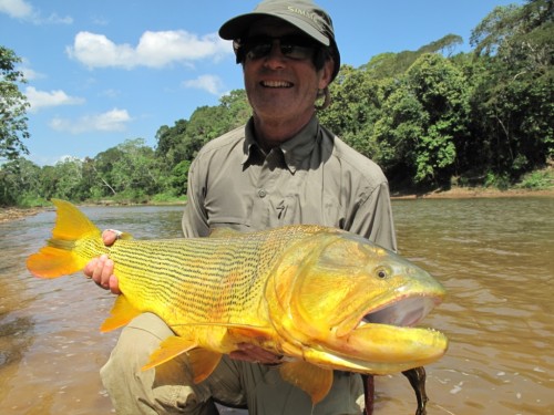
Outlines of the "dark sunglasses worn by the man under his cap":
M 297 61 L 314 58 L 314 52 L 318 48 L 314 41 L 298 35 L 283 38 L 253 37 L 246 39 L 240 46 L 245 59 L 256 60 L 268 56 L 276 42 L 278 42 L 278 48 L 284 56 Z

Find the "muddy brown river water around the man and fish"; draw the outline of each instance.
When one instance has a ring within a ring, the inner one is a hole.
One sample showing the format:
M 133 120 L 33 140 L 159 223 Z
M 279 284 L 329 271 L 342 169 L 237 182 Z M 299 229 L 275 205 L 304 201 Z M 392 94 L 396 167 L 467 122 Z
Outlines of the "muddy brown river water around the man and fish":
M 181 207 L 85 207 L 100 227 L 179 237 Z M 554 198 L 394 200 L 400 253 L 449 295 L 423 325 L 450 349 L 427 366 L 428 414 L 554 414 Z M 113 295 L 82 274 L 30 276 L 54 212 L 0 224 L 0 414 L 110 414 L 99 370 Z M 376 380 L 377 414 L 413 414 L 402 375 Z M 293 414 L 296 415 L 296 414 Z

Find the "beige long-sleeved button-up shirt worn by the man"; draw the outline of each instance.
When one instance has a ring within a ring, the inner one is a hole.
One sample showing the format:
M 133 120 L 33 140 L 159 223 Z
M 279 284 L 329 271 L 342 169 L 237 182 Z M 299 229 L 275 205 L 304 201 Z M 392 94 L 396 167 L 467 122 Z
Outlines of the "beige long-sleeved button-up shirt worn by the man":
M 316 117 L 268 154 L 256 143 L 252 120 L 201 149 L 188 172 L 186 237 L 216 227 L 253 231 L 293 224 L 341 228 L 397 249 L 381 169 Z

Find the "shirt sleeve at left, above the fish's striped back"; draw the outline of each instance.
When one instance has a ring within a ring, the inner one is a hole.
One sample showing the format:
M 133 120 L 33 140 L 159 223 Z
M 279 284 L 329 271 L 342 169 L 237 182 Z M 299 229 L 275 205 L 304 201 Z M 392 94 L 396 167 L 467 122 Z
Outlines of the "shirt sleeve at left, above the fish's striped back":
M 205 184 L 203 177 L 206 177 L 199 170 L 199 163 L 195 159 L 188 170 L 187 200 L 181 225 L 185 238 L 206 237 L 209 235 L 207 214 L 204 207 Z

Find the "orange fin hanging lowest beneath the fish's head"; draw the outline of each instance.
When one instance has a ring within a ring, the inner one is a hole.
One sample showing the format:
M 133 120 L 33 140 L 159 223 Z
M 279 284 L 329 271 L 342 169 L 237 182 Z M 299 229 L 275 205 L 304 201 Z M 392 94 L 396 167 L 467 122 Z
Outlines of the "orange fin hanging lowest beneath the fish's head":
M 331 370 L 305 361 L 284 363 L 279 373 L 285 381 L 310 395 L 314 405 L 324 400 L 332 385 Z

